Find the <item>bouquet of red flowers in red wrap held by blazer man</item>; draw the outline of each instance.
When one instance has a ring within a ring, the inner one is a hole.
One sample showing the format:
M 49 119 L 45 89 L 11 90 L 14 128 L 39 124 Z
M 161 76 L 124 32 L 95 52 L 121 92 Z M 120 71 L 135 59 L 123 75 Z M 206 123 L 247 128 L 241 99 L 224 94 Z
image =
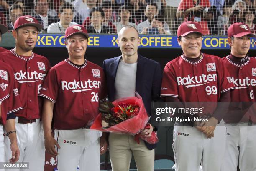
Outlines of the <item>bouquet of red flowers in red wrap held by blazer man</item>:
M 90 129 L 102 132 L 136 135 L 146 126 L 149 118 L 142 99 L 126 97 L 100 104 L 100 114 Z

